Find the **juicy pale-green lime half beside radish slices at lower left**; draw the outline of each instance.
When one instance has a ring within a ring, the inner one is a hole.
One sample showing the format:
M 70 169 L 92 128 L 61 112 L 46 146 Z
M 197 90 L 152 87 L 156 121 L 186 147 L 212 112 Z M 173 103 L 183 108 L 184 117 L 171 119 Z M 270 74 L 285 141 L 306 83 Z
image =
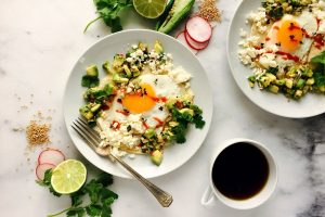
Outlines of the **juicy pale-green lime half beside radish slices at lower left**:
M 69 194 L 82 187 L 86 177 L 87 169 L 81 162 L 67 159 L 53 169 L 51 184 L 57 193 Z

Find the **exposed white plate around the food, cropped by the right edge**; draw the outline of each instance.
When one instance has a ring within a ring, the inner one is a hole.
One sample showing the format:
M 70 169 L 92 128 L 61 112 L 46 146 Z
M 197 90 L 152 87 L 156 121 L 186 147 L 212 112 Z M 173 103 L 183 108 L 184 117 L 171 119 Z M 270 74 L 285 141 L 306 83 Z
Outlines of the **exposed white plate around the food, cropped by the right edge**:
M 249 30 L 245 23 L 247 15 L 251 11 L 257 11 L 261 5 L 261 0 L 244 0 L 230 26 L 227 35 L 227 59 L 232 69 L 233 77 L 242 91 L 258 106 L 275 115 L 302 118 L 311 117 L 325 112 L 324 94 L 307 94 L 299 101 L 288 100 L 283 94 L 273 94 L 268 91 L 261 91 L 257 87 L 251 89 L 247 77 L 251 75 L 251 69 L 244 66 L 237 56 L 239 50 L 238 42 L 242 40 L 239 29 Z

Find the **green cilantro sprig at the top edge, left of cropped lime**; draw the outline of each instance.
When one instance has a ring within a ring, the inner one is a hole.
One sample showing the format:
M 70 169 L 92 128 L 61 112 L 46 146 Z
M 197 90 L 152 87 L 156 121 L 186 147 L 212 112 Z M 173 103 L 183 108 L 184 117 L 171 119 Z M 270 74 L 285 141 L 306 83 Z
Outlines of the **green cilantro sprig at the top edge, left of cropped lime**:
M 83 33 L 99 20 L 103 20 L 110 27 L 112 33 L 122 30 L 119 13 L 127 8 L 133 7 L 132 0 L 94 0 L 93 2 L 96 7 L 96 13 L 100 16 L 91 21 L 86 26 Z

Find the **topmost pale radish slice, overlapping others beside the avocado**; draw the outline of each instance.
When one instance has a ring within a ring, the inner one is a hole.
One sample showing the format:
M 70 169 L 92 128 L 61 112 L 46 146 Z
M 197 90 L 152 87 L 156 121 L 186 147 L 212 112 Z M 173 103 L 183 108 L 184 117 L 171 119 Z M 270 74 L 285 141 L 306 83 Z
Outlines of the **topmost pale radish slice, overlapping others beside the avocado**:
M 199 16 L 194 16 L 187 21 L 186 31 L 194 41 L 199 43 L 208 41 L 212 35 L 211 25 Z

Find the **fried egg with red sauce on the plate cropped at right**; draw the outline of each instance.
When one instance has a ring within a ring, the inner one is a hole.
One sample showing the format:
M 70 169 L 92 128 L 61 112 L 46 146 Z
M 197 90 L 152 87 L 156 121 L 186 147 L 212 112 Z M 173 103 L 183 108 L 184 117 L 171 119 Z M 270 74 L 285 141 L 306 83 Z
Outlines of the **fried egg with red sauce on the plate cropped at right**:
M 317 20 L 312 13 L 303 11 L 299 16 L 286 14 L 272 25 L 265 43 L 276 44 L 280 55 L 289 54 L 303 61 L 313 43 L 311 37 L 316 30 Z M 281 65 L 288 60 L 277 56 L 276 61 Z

